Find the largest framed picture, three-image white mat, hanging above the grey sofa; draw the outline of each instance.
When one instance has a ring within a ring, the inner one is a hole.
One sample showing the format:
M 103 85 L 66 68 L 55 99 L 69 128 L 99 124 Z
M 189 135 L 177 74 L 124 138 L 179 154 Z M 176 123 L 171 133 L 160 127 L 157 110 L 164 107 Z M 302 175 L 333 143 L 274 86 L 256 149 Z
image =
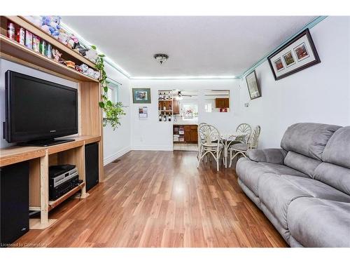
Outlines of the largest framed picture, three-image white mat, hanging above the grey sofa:
M 276 81 L 321 62 L 309 29 L 281 46 L 267 60 Z

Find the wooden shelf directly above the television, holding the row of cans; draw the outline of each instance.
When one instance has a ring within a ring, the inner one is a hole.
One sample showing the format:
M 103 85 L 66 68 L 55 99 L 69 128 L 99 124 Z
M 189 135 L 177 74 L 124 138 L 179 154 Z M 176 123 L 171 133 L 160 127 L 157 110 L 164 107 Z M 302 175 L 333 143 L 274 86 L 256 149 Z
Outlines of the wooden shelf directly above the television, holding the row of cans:
M 3 35 L 0 35 L 0 51 L 1 58 L 3 59 L 32 67 L 43 72 L 55 74 L 56 76 L 60 76 L 64 79 L 99 82 L 98 79 L 94 79 L 83 73 L 77 72 L 75 69 L 66 67 L 55 60 L 46 58 L 44 55 L 41 55 L 41 53 L 26 48 L 25 46 L 20 45 L 20 43 L 10 40 Z

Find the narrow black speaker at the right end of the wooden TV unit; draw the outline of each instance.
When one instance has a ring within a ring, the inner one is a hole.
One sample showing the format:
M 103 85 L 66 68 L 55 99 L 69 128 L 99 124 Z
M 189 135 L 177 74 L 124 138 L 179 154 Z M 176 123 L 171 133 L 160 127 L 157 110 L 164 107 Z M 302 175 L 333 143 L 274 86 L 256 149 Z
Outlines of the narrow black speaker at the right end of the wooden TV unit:
M 99 144 L 97 142 L 85 145 L 85 183 L 86 191 L 99 183 Z

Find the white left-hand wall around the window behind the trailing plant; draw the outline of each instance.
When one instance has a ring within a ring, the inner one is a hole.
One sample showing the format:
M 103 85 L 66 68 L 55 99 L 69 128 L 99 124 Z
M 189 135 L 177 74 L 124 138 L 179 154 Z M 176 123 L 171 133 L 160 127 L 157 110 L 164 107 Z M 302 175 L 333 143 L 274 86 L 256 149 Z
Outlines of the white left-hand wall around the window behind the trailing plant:
M 116 130 L 109 125 L 104 127 L 104 165 L 131 149 L 130 80 L 108 64 L 105 65 L 105 70 L 107 76 L 122 84 L 119 86 L 118 100 L 125 105 L 127 115 L 122 116 L 121 125 Z

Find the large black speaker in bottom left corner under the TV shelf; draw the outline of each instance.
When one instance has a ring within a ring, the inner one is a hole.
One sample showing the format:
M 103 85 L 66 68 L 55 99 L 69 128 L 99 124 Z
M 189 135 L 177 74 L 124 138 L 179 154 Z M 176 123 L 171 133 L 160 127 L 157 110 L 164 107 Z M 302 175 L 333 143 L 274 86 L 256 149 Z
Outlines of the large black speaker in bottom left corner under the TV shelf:
M 29 163 L 0 169 L 0 243 L 13 243 L 29 231 Z

